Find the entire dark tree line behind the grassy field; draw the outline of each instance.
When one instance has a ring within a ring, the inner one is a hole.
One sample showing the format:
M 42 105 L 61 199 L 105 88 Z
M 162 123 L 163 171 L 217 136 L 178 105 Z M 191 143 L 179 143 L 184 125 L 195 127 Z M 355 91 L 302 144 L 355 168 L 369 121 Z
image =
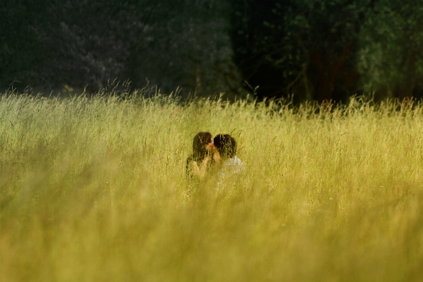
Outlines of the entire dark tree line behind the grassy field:
M 423 97 L 417 0 L 5 0 L 0 87 Z

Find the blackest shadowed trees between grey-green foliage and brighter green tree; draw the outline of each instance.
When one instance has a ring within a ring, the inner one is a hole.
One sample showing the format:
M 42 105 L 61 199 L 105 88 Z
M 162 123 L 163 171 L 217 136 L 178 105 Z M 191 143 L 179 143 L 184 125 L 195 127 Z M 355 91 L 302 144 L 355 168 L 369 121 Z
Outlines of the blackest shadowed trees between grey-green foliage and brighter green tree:
M 357 38 L 372 5 L 371 0 L 238 0 L 232 18 L 237 63 L 255 84 L 260 68 L 273 78 L 264 96 L 345 99 L 357 87 Z

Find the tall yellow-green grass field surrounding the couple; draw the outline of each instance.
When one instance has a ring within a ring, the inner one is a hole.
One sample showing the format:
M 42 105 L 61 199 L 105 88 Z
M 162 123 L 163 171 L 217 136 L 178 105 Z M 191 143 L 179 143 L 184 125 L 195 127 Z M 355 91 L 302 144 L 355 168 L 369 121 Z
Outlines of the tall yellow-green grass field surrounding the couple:
M 421 281 L 423 104 L 0 97 L 0 281 Z M 185 179 L 198 131 L 242 173 Z

